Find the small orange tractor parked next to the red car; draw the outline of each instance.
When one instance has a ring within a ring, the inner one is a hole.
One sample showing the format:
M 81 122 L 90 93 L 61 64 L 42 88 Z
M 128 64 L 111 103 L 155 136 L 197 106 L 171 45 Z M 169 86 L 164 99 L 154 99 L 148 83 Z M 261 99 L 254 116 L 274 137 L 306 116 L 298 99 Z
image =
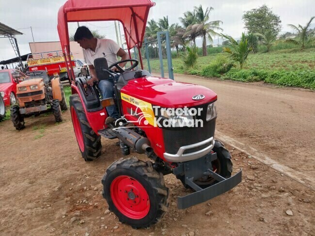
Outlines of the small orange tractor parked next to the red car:
M 28 72 L 26 75 L 27 78 L 16 78 L 18 103 L 10 109 L 16 130 L 25 128 L 24 118 L 46 112 L 52 112 L 56 122 L 63 121 L 61 111 L 67 110 L 67 103 L 58 73 L 50 78 L 46 71 Z

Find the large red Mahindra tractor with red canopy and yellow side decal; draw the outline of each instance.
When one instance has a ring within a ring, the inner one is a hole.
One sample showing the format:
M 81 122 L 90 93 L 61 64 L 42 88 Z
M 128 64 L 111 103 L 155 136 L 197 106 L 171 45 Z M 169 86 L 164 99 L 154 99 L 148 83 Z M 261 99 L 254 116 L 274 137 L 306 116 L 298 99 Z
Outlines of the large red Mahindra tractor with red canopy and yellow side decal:
M 58 31 L 65 60 L 70 59 L 67 22 L 119 20 L 124 27 L 126 44 L 141 46 L 147 16 L 155 3 L 151 0 L 68 0 L 58 13 Z M 130 57 L 131 58 L 131 57 Z M 119 221 L 133 228 L 157 223 L 169 207 L 169 189 L 163 176 L 174 174 L 186 188 L 195 192 L 177 197 L 179 209 L 203 203 L 234 188 L 241 182 L 241 171 L 232 175 L 229 151 L 214 139 L 217 118 L 217 94 L 212 90 L 151 76 L 145 70 L 108 66 L 105 58 L 95 59 L 98 79 L 116 72 L 114 98 L 101 97 L 96 86 L 87 85 L 88 77 L 72 81 L 70 111 L 79 149 L 85 161 L 101 155 L 101 137 L 118 139 L 124 156 L 130 148 L 146 154 L 151 161 L 135 157 L 113 162 L 102 178 L 103 197 Z M 116 104 L 121 119 L 105 125 L 106 106 Z

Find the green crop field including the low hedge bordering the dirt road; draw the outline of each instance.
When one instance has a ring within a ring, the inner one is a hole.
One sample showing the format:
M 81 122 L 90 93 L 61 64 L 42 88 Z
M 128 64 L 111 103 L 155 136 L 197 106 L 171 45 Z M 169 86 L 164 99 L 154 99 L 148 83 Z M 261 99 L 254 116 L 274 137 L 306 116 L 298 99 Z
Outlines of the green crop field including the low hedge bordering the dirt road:
M 219 54 L 199 57 L 194 69 L 185 68 L 181 58 L 173 58 L 174 73 L 202 75 L 203 69 L 215 60 L 217 55 Z M 163 64 L 166 72 L 166 59 L 163 59 Z M 150 59 L 150 65 L 152 72 L 160 72 L 158 59 Z M 148 68 L 146 59 L 144 59 L 144 67 Z M 315 49 L 310 48 L 303 52 L 288 52 L 286 49 L 250 54 L 244 70 L 239 70 L 236 65 L 230 72 L 222 74 L 221 79 L 243 82 L 265 81 L 282 86 L 315 89 Z

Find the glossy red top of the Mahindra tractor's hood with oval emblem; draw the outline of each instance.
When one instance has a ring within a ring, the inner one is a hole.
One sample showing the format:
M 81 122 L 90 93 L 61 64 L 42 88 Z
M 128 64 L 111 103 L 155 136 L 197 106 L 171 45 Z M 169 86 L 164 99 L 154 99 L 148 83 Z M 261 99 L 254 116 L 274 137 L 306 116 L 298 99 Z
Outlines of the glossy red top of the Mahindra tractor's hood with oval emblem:
M 173 108 L 196 106 L 217 99 L 217 94 L 209 88 L 154 76 L 130 80 L 121 92 L 154 105 Z M 205 97 L 196 101 L 192 99 L 196 95 Z

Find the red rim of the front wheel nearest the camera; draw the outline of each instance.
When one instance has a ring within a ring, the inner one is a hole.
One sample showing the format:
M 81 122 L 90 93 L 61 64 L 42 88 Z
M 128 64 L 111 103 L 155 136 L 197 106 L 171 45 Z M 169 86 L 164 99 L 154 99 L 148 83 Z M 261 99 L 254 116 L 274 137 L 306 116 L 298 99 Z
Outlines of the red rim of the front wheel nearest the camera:
M 130 219 L 142 219 L 150 210 L 148 193 L 140 182 L 128 176 L 111 182 L 110 197 L 117 210 Z

